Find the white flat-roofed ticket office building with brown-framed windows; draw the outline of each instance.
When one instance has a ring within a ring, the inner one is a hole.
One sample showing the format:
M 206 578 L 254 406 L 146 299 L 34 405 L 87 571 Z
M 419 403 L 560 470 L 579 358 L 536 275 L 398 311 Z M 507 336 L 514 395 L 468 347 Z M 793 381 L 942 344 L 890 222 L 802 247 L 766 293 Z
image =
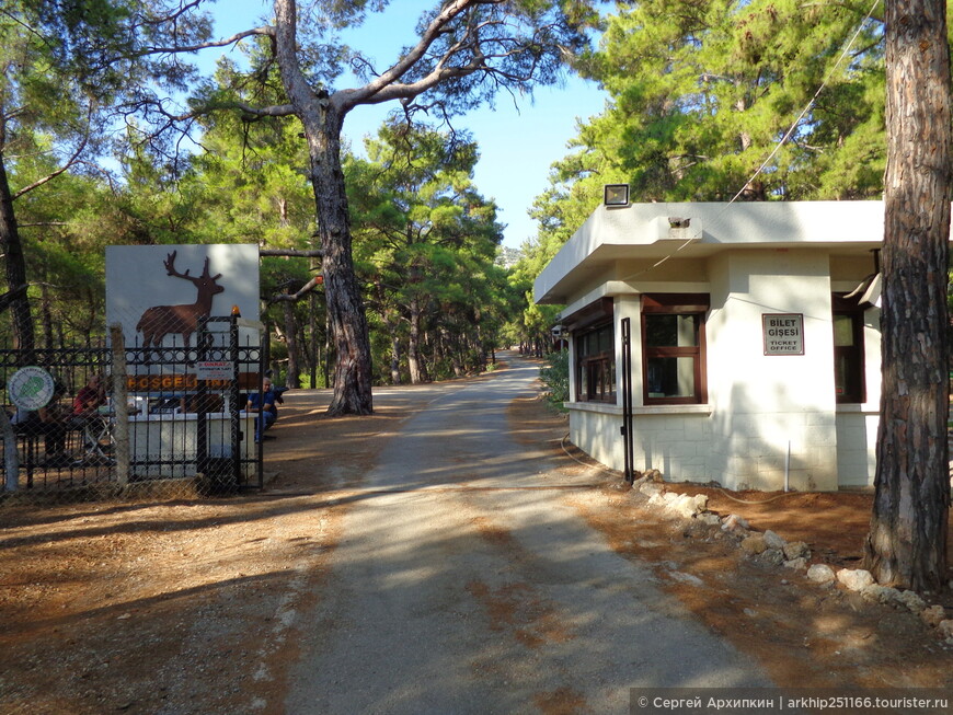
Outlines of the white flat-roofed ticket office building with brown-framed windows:
M 871 485 L 883 203 L 611 197 L 535 285 L 565 305 L 572 441 L 622 470 L 624 321 L 635 469 L 734 489 Z

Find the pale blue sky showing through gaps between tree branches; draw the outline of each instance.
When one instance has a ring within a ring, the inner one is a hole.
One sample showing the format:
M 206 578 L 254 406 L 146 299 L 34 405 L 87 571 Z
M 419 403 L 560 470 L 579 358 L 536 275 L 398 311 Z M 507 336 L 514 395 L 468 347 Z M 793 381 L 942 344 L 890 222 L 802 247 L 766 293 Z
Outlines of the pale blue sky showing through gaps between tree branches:
M 400 48 L 413 42 L 421 11 L 434 1 L 392 0 L 384 12 L 371 13 L 360 28 L 351 32 L 347 42 L 372 56 L 378 67 L 389 67 Z M 254 26 L 255 20 L 271 13 L 271 4 L 269 0 L 219 0 L 210 5 L 216 35 L 227 37 Z M 215 55 L 206 50 L 200 60 L 202 67 L 210 68 Z M 342 78 L 334 89 L 355 85 Z M 501 95 L 495 109 L 481 107 L 455 120 L 455 127 L 469 129 L 480 146 L 474 182 L 501 209 L 505 246 L 518 249 L 536 235 L 527 210 L 547 189 L 550 165 L 569 152 L 566 142 L 576 135 L 577 119 L 599 114 L 606 96 L 595 83 L 569 77 L 562 88 L 538 89 L 532 101 L 518 97 L 514 104 L 509 95 Z M 344 136 L 353 150 L 363 152 L 364 137 L 376 135 L 397 106 L 387 103 L 353 109 L 344 119 Z

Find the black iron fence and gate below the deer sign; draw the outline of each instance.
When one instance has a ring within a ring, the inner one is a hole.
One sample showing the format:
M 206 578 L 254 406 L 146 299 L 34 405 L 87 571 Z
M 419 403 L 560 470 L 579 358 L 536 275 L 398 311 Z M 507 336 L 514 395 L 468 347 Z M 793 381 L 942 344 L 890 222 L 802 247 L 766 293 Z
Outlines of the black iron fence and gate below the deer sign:
M 240 320 L 206 319 L 194 345 L 127 345 L 116 326 L 85 345 L 0 349 L 0 499 L 261 488 L 244 407 L 267 345 L 240 344 Z

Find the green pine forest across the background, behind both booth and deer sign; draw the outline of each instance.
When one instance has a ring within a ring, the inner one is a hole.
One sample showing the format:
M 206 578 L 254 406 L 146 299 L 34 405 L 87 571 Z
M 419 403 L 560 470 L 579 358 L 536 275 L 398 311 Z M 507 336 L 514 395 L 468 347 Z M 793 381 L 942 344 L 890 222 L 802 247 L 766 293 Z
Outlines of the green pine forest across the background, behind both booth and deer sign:
M 295 114 L 250 108 L 288 103 L 273 38 L 244 36 L 241 62 L 222 59 L 213 77 L 188 65 L 192 54 L 158 51 L 225 45 L 211 38 L 202 4 L 12 2 L 0 11 L 4 343 L 26 339 L 24 305 L 37 344 L 102 334 L 108 244 L 320 252 L 306 127 Z M 500 4 L 513 15 L 533 3 Z M 299 54 L 311 80 L 331 88 L 343 64 L 359 62 L 359 48 L 331 44 L 332 30 L 370 5 L 322 5 L 299 19 L 313 42 Z M 600 8 L 601 16 L 561 15 L 575 23 L 574 42 L 589 42 L 536 78 L 578 72 L 605 89 L 607 105 L 553 158 L 551 187 L 532 208 L 538 233 L 512 269 L 497 261 L 495 207 L 473 185 L 479 146 L 466 131 L 420 120 L 439 112 L 403 101 L 364 151 L 344 146 L 376 383 L 479 369 L 494 346 L 544 345 L 553 315 L 528 300 L 532 279 L 606 183 L 630 183 L 634 200 L 881 196 L 882 10 L 864 1 L 805 12 L 792 0 Z M 190 97 L 195 111 L 173 115 L 163 92 Z M 464 113 L 484 95 L 475 84 L 455 87 L 439 107 Z M 308 290 L 321 269 L 319 257 L 262 260 L 263 314 L 291 385 L 333 380 L 325 291 Z

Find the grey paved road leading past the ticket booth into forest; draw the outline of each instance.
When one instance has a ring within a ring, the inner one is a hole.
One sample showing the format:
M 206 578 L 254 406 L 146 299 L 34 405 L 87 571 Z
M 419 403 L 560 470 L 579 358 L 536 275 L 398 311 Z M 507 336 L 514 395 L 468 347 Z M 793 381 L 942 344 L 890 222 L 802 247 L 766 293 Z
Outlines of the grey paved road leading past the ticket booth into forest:
M 540 488 L 585 477 L 508 434 L 537 376 L 510 364 L 448 387 L 366 476 L 301 614 L 287 712 L 628 713 L 630 688 L 770 684 L 615 554 L 565 488 Z

